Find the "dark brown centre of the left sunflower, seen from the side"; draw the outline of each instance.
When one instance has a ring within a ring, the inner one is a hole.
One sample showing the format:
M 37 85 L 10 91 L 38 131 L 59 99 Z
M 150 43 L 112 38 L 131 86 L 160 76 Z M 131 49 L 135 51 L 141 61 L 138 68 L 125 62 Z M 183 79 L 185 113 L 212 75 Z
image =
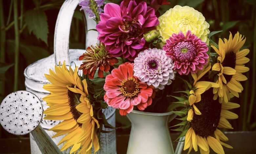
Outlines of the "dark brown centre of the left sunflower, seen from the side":
M 74 86 L 72 86 L 74 87 Z M 79 103 L 81 103 L 79 101 L 80 98 L 80 94 L 77 94 L 75 92 L 72 92 L 70 90 L 68 90 L 68 98 L 69 98 L 69 106 L 70 106 L 70 112 L 73 115 L 73 118 L 75 119 L 75 121 L 77 121 L 77 119 L 82 115 L 81 112 L 79 112 L 75 106 L 77 106 Z M 82 124 L 77 123 L 80 127 L 82 127 Z

